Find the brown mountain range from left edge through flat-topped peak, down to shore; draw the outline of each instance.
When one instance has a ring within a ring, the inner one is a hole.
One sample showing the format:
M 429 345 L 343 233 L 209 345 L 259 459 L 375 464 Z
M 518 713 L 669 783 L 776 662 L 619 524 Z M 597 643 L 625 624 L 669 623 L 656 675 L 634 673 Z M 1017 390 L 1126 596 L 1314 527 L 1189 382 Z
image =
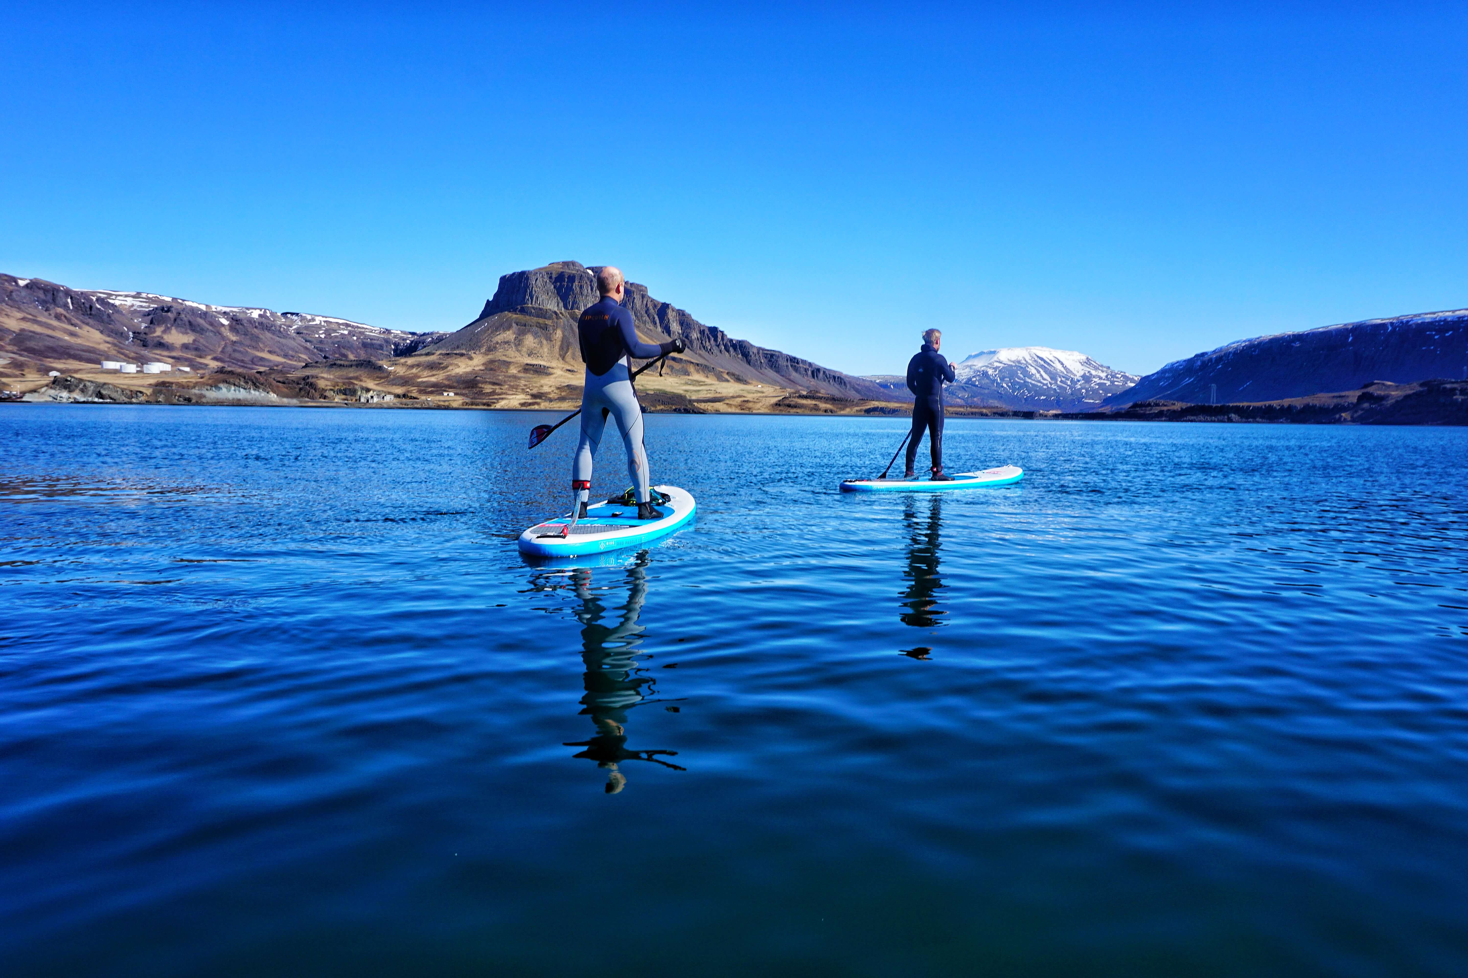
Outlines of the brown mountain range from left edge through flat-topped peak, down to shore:
M 574 406 L 583 369 L 575 323 L 597 298 L 595 271 L 564 261 L 502 276 L 480 315 L 454 333 L 0 276 L 0 393 L 166 403 Z M 643 339 L 681 336 L 688 345 L 664 369 L 639 378 L 649 409 L 891 411 L 876 384 L 735 340 L 653 299 L 644 286 L 628 283 L 625 305 Z M 144 377 L 101 368 L 101 361 L 154 359 L 191 372 Z M 48 384 L 50 372 L 59 377 Z

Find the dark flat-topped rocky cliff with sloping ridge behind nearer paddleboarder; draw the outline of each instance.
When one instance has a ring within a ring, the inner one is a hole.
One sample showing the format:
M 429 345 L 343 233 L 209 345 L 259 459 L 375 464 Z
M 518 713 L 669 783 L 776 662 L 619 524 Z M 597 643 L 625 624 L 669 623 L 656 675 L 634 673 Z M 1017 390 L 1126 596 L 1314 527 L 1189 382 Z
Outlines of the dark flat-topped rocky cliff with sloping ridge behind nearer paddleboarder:
M 558 261 L 543 268 L 501 276 L 479 318 L 426 352 L 477 352 L 540 359 L 580 367 L 575 321 L 597 301 L 595 274 L 600 265 Z M 841 397 L 888 399 L 860 377 L 850 377 L 780 350 L 737 340 L 699 323 L 683 309 L 653 299 L 646 286 L 627 284 L 627 309 L 643 339 L 655 343 L 683 337 L 688 352 L 680 369 L 705 371 L 721 380 L 815 390 Z M 669 368 L 672 369 L 672 368 Z

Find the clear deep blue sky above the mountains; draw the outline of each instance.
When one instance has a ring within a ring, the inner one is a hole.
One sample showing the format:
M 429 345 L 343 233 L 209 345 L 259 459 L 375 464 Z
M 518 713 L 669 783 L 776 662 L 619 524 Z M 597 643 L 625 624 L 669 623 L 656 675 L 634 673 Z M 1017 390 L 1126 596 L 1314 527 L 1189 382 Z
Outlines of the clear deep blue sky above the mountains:
M 618 264 L 850 372 L 1468 306 L 1464 4 L 10 3 L 0 270 L 464 326 Z

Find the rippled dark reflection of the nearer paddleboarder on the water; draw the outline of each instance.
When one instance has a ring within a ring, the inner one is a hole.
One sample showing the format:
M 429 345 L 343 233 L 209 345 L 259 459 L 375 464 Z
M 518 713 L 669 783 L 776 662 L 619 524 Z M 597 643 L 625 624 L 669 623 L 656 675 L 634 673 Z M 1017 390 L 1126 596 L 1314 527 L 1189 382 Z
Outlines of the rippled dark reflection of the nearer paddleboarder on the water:
M 642 645 L 643 629 L 637 623 L 643 601 L 647 597 L 647 554 L 637 556 L 637 562 L 627 569 L 627 601 L 614 613 L 615 623 L 606 625 L 603 619 L 608 609 L 602 601 L 602 591 L 592 587 L 592 572 L 578 567 L 571 572 L 571 582 L 575 595 L 581 600 L 581 607 L 575 617 L 581 622 L 581 661 L 586 672 L 581 676 L 586 685 L 586 695 L 581 696 L 581 716 L 590 714 L 596 726 L 596 736 L 590 740 L 567 743 L 565 746 L 586 748 L 575 757 L 596 761 L 596 765 L 606 770 L 606 793 L 615 795 L 627 786 L 627 777 L 621 771 L 622 761 L 652 761 L 671 767 L 675 771 L 684 768 L 677 764 L 659 761 L 658 755 L 674 757 L 677 751 L 630 751 L 627 748 L 627 711 L 644 699 L 644 688 L 652 686 L 652 679 L 644 676 L 644 669 L 637 664 L 637 650 Z M 650 691 L 649 691 L 650 692 Z

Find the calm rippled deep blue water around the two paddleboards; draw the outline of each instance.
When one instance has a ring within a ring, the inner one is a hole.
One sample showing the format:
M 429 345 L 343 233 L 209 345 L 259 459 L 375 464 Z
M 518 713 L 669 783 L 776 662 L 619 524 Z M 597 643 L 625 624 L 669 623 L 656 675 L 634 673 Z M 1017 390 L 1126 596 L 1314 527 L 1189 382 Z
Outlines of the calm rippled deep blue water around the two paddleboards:
M 1468 971 L 1468 430 L 545 418 L 0 409 L 7 975 Z

